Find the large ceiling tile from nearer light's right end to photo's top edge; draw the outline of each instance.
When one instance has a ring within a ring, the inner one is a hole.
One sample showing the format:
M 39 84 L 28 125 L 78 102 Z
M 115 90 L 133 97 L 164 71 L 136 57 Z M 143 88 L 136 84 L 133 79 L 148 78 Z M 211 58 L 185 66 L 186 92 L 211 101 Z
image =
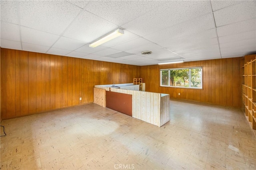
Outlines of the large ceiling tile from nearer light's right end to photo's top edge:
M 208 1 L 168 1 L 121 26 L 143 36 L 207 14 L 209 5 Z

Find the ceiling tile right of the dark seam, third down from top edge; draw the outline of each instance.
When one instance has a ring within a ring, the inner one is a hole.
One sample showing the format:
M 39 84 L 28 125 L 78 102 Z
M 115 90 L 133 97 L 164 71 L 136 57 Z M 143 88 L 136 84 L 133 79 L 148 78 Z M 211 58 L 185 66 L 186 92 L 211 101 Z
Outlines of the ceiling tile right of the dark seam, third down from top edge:
M 221 27 L 217 27 L 217 33 L 219 37 L 226 35 L 234 35 L 236 33 L 242 33 L 247 31 L 256 30 L 256 20 L 246 20 L 241 22 L 236 22 Z

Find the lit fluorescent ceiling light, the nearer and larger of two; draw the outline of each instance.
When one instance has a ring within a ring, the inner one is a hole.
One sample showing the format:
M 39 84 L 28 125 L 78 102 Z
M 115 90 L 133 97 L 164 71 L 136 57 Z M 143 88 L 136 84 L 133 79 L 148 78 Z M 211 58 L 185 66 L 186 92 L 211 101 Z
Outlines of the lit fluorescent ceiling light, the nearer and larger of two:
M 106 43 L 106 42 L 116 38 L 116 37 L 119 37 L 120 35 L 124 35 L 124 30 L 116 29 L 115 31 L 110 32 L 110 33 L 104 35 L 102 38 L 94 41 L 93 43 L 90 43 L 89 47 L 93 47 L 93 48 L 97 47 L 97 46 L 99 46 L 99 45 L 101 45 L 103 43 Z

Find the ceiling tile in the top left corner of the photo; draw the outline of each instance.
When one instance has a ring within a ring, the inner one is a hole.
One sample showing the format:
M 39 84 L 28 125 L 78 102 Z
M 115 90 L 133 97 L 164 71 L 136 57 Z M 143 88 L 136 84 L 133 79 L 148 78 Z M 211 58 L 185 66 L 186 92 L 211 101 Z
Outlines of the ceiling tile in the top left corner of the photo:
M 1 21 L 19 24 L 17 6 L 18 1 L 1 0 Z

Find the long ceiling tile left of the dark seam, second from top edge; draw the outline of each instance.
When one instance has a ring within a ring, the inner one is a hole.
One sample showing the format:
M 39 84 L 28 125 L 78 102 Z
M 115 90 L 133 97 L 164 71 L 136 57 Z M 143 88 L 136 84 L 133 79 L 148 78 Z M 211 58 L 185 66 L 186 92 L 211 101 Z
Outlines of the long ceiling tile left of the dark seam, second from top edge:
M 206 14 L 193 20 L 182 22 L 172 27 L 146 35 L 144 38 L 154 41 L 155 43 L 160 43 L 162 41 L 169 41 L 170 39 L 177 37 L 185 37 L 191 34 L 200 33 L 201 31 L 212 28 L 214 28 L 212 15 Z

